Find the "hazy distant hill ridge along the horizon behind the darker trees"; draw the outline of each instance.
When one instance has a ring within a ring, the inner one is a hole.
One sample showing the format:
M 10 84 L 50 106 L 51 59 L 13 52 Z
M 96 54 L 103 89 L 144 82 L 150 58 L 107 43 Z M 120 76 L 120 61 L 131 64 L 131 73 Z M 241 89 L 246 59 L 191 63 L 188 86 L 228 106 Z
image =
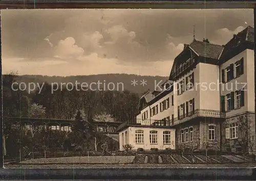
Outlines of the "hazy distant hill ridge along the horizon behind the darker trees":
M 3 75 L 4 78 L 4 75 Z M 91 83 L 103 83 L 105 84 L 106 89 L 109 88 L 113 89 L 113 85 L 115 87 L 114 90 L 122 91 L 129 90 L 136 93 L 143 93 L 148 89 L 154 90 L 155 89 L 155 82 L 156 84 L 160 81 L 167 80 L 168 77 L 164 76 L 142 76 L 142 75 L 135 75 L 135 74 L 97 74 L 97 75 L 77 75 L 77 76 L 46 76 L 46 75 L 19 75 L 17 78 L 17 82 L 24 82 L 26 85 L 29 83 L 43 83 L 47 82 L 48 84 L 52 83 L 72 83 L 75 85 L 75 82 L 78 83 L 87 83 L 89 86 Z M 132 81 L 138 81 L 136 86 L 132 85 Z M 140 85 L 141 81 L 146 81 L 146 85 Z M 86 85 L 86 84 L 84 84 Z M 117 86 L 118 85 L 118 86 Z M 96 88 L 95 84 L 92 84 L 92 88 Z

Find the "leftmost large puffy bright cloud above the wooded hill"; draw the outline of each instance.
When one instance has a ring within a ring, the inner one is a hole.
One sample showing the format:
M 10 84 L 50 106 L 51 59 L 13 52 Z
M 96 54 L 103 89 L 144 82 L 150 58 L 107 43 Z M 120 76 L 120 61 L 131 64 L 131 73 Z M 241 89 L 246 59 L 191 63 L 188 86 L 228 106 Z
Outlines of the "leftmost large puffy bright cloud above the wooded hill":
M 68 37 L 65 40 L 60 40 L 55 48 L 55 57 L 70 59 L 82 56 L 83 48 L 75 45 L 75 39 Z

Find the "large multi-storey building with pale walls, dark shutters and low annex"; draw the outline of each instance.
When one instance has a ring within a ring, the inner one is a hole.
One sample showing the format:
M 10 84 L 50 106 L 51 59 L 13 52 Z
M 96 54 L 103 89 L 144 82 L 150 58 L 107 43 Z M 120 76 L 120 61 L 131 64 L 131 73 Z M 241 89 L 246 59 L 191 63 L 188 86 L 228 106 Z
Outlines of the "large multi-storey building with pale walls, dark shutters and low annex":
M 140 98 L 136 120 L 121 124 L 120 149 L 254 152 L 254 106 L 254 29 L 225 45 L 194 39 L 175 58 L 169 80 Z

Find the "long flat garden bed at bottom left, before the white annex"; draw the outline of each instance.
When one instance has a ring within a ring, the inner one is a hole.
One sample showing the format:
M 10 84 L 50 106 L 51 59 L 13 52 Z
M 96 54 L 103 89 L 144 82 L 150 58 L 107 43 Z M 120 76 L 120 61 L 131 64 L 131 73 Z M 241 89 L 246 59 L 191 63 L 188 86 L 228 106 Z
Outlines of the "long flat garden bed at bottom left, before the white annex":
M 134 156 L 95 156 L 31 159 L 20 164 L 125 164 L 132 163 Z

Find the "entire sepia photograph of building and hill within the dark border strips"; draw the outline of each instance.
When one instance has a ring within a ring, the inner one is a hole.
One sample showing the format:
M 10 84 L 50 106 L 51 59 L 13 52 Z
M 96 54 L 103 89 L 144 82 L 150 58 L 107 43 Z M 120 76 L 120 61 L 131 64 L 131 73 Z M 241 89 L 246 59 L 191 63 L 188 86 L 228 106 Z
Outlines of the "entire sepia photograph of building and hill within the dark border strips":
M 253 9 L 1 10 L 4 168 L 251 168 Z

